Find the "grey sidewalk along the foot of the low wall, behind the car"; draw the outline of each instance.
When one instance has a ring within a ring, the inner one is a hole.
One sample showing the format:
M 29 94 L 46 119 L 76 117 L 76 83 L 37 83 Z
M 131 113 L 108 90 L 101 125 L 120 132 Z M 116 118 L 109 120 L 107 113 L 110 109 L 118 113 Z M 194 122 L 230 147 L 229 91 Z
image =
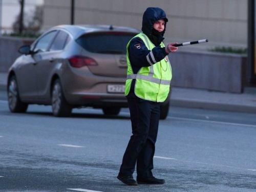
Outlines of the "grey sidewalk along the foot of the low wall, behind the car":
M 0 73 L 0 89 L 6 90 L 7 74 Z M 200 89 L 172 88 L 171 106 L 233 112 L 256 113 L 256 88 L 244 93 L 225 93 Z

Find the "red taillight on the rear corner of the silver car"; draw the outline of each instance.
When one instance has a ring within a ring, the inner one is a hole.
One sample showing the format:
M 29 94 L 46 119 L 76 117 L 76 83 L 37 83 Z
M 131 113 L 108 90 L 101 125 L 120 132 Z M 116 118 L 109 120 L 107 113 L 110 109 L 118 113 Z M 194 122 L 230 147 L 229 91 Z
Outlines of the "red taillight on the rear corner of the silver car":
M 84 66 L 97 66 L 98 63 L 90 57 L 73 56 L 69 58 L 70 65 L 75 68 L 81 68 Z

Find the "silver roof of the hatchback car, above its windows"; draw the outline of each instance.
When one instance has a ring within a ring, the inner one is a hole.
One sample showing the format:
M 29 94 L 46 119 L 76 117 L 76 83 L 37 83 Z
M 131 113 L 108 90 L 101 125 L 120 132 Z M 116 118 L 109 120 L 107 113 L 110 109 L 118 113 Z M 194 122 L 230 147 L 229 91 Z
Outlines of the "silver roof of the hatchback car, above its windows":
M 74 38 L 80 37 L 84 33 L 103 32 L 103 31 L 116 31 L 116 32 L 130 32 L 140 33 L 138 29 L 124 26 L 112 25 L 59 25 L 52 27 L 50 30 L 64 29 L 67 30 Z

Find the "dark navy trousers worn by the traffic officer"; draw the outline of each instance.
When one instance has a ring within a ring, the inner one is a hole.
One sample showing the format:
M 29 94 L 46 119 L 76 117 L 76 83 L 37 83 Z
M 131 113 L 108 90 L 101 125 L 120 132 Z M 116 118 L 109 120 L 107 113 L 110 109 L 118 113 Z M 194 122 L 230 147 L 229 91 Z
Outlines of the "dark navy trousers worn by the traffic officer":
M 123 155 L 120 176 L 132 176 L 137 163 L 137 179 L 153 177 L 152 169 L 160 117 L 160 103 L 127 97 L 132 133 Z

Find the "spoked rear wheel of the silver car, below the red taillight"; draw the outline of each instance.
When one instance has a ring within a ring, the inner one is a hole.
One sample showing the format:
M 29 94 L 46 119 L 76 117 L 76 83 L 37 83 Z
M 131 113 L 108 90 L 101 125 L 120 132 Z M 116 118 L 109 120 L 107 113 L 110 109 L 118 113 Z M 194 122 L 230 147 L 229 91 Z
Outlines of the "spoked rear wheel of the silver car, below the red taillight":
M 56 117 L 68 117 L 72 112 L 72 106 L 63 95 L 59 79 L 54 81 L 52 88 L 52 112 Z

